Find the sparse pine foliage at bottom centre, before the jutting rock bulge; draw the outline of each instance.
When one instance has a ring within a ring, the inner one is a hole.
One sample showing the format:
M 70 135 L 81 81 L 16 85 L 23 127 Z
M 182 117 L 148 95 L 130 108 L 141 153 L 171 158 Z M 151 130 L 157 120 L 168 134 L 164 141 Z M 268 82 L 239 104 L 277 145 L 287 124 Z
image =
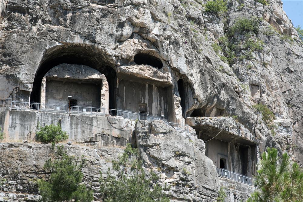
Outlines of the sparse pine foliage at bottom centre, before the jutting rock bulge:
M 165 191 L 169 188 L 166 183 L 162 187 L 160 177 L 152 171 L 148 174 L 142 168 L 138 149 L 131 144 L 118 161 L 112 161 L 112 170 L 106 172 L 106 178 L 100 178 L 100 192 L 104 194 L 105 202 L 168 202 Z M 112 174 L 113 173 L 113 174 Z

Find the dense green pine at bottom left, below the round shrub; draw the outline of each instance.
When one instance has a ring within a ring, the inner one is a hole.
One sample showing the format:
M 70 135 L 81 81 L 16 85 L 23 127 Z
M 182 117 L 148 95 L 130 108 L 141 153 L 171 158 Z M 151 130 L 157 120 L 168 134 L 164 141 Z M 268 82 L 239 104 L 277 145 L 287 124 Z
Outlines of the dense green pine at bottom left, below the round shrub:
M 77 159 L 78 160 L 78 159 Z M 68 156 L 63 146 L 58 147 L 55 160 L 48 159 L 44 169 L 51 173 L 49 180 L 38 180 L 38 189 L 43 202 L 70 201 L 90 202 L 93 200 L 93 191 L 81 184 L 85 165 L 82 156 L 81 163 L 77 164 L 72 156 Z

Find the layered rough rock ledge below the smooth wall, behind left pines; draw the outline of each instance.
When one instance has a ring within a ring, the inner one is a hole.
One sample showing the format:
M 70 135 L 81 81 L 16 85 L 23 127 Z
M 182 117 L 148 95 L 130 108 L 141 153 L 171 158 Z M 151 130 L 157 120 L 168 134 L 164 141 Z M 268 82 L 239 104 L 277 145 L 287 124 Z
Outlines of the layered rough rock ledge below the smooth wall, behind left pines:
M 95 200 L 99 200 L 101 197 L 98 194 L 100 171 L 105 173 L 108 167 L 112 167 L 112 160 L 117 159 L 124 148 L 59 145 L 64 146 L 68 155 L 79 159 L 84 155 L 87 164 L 82 169 L 83 180 L 85 184 L 92 185 Z M 27 201 L 25 198 L 37 200 L 38 189 L 34 181 L 48 176 L 42 168 L 45 161 L 53 156 L 51 144 L 0 143 L 0 176 L 6 180 L 0 187 L 0 201 Z

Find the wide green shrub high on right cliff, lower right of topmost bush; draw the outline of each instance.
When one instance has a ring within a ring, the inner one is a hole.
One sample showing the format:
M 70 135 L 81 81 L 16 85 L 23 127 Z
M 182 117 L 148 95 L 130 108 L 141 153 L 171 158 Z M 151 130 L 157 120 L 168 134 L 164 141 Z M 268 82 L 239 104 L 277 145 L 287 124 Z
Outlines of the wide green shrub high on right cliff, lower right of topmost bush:
M 235 33 L 242 34 L 244 32 L 252 32 L 254 34 L 259 33 L 259 22 L 260 19 L 248 19 L 248 18 L 240 18 L 238 19 L 234 25 L 232 25 L 229 35 L 233 36 Z

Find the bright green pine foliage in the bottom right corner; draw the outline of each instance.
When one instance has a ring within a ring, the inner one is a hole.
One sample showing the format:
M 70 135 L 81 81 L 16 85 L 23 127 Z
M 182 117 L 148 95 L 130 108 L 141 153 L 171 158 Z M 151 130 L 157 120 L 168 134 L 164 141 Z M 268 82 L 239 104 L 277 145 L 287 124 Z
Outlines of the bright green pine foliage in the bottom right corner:
M 281 157 L 275 148 L 262 154 L 255 191 L 248 202 L 302 201 L 303 172 L 297 163 L 290 164 L 287 153 Z

